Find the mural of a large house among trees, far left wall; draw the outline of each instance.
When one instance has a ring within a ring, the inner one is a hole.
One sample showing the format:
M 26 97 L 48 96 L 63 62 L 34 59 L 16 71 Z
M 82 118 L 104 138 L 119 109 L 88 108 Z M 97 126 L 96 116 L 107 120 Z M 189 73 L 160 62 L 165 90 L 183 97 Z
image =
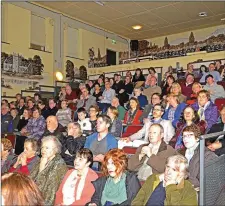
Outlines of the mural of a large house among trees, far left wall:
M 24 89 L 37 89 L 44 71 L 41 57 L 24 58 L 22 55 L 1 52 L 1 86 L 14 89 L 16 85 L 24 85 Z

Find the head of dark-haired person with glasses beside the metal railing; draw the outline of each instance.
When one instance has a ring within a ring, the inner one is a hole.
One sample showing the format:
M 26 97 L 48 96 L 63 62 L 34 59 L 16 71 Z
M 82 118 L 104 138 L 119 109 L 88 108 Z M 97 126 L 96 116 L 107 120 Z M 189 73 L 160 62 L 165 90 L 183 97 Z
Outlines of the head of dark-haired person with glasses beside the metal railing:
M 187 149 L 193 148 L 199 141 L 201 131 L 196 124 L 191 124 L 183 129 L 183 142 Z

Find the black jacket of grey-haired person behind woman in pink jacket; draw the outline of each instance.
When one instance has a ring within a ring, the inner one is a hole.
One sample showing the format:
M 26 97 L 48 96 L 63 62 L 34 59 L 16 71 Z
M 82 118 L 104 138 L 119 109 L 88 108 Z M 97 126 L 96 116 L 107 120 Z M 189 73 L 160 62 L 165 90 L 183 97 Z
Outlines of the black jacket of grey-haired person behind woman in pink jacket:
M 67 165 L 74 166 L 74 158 L 77 151 L 84 147 L 86 138 L 83 136 L 74 138 L 73 136 L 68 136 L 64 138 L 64 143 L 62 145 L 61 156 Z M 66 154 L 66 151 L 71 154 Z

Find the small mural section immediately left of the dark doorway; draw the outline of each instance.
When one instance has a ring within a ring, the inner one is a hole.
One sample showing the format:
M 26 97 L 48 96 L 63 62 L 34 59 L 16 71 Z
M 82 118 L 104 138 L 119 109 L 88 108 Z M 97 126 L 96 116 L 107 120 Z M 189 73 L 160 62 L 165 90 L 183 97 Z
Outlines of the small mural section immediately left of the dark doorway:
M 97 57 L 95 57 L 95 51 L 94 51 L 93 47 L 89 49 L 88 56 L 89 56 L 88 68 L 107 66 L 106 55 L 102 57 L 99 48 L 98 48 L 98 56 Z

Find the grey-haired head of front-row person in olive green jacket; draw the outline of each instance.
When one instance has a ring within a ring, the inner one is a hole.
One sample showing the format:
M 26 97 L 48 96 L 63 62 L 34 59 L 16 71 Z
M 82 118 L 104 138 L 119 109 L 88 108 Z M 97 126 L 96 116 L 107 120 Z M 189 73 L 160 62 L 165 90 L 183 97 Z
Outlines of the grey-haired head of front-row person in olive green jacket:
M 167 158 L 164 172 L 166 182 L 172 181 L 179 184 L 178 180 L 187 179 L 188 160 L 183 155 L 174 155 Z

